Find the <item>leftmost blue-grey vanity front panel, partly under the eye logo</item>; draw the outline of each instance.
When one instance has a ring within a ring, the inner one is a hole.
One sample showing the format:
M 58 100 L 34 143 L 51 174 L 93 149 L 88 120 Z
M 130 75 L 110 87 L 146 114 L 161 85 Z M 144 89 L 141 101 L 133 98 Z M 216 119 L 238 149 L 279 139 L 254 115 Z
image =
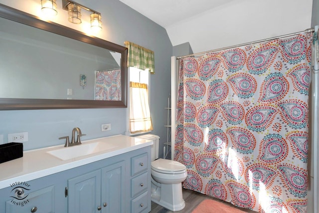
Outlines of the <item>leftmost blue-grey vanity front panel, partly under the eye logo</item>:
M 23 200 L 10 200 L 5 203 L 5 213 L 54 213 L 54 186 L 31 192 Z M 33 210 L 34 211 L 34 210 Z

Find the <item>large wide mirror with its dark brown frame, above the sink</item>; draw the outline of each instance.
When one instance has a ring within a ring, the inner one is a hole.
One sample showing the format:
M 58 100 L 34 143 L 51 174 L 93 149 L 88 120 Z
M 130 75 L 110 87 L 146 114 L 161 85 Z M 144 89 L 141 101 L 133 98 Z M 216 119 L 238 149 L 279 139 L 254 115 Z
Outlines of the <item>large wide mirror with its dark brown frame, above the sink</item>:
M 127 48 L 0 4 L 0 110 L 127 106 Z

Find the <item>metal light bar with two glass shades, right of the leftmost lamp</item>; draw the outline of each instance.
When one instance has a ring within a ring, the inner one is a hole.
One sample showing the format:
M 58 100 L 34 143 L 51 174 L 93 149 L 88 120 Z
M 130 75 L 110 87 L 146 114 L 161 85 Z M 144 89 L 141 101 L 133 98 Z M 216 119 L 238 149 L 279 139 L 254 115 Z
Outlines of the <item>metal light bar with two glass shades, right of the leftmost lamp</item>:
M 73 0 L 62 0 L 62 8 L 68 10 L 68 20 L 72 23 L 81 23 L 81 8 L 92 12 L 91 29 L 92 31 L 100 31 L 102 29 L 101 13 L 89 7 L 83 6 Z

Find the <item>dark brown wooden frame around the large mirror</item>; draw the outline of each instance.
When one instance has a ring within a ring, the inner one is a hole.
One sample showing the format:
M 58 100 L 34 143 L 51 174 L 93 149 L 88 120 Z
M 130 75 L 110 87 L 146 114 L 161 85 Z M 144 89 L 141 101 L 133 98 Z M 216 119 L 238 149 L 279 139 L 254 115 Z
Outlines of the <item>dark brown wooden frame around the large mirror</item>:
M 121 101 L 0 98 L 0 110 L 127 107 L 127 47 L 103 40 L 101 38 L 88 36 L 81 31 L 51 21 L 40 20 L 38 17 L 32 14 L 14 9 L 4 4 L 0 4 L 0 17 L 121 53 L 122 91 Z

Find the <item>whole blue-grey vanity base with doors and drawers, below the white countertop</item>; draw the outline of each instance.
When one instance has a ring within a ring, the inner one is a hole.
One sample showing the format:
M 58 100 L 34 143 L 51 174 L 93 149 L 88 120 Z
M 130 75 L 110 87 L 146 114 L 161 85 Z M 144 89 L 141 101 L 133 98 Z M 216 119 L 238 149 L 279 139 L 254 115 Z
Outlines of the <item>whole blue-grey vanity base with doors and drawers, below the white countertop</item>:
M 0 190 L 0 213 L 149 213 L 151 146 L 27 183 L 24 206 L 11 202 L 11 186 Z

